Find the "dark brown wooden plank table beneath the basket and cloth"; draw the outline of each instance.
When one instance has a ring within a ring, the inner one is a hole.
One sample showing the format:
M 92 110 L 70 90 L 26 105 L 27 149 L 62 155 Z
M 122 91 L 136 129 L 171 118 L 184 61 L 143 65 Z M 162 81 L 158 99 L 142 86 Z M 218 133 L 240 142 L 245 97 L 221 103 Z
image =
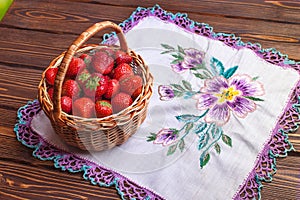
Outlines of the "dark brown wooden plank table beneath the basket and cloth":
M 235 33 L 244 42 L 274 47 L 300 60 L 298 0 L 156 3 L 173 13 L 186 12 L 215 32 Z M 35 159 L 32 150 L 16 140 L 13 127 L 17 109 L 36 98 L 42 71 L 83 30 L 103 20 L 120 23 L 137 6 L 153 5 L 150 0 L 15 0 L 0 23 L 0 199 L 120 198 L 114 188 L 93 186 L 80 173 L 62 172 L 52 161 Z M 277 174 L 264 183 L 262 199 L 300 198 L 300 132 L 289 138 L 296 151 L 278 159 Z

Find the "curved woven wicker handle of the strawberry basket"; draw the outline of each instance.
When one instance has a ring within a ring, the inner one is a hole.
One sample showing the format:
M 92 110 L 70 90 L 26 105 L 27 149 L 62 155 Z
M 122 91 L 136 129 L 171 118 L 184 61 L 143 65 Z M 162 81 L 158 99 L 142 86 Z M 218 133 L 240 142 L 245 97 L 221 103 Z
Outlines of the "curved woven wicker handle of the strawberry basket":
M 102 31 L 104 29 L 113 29 L 120 42 L 120 48 L 129 53 L 129 49 L 125 40 L 125 36 L 123 34 L 122 29 L 115 23 L 110 22 L 110 21 L 104 21 L 104 22 L 99 22 L 91 27 L 89 27 L 86 31 L 81 33 L 81 35 L 72 43 L 72 45 L 69 47 L 67 52 L 64 55 L 64 58 L 58 67 L 58 72 L 55 78 L 54 82 L 54 93 L 53 93 L 53 116 L 54 119 L 57 121 L 62 121 L 61 120 L 61 92 L 62 92 L 62 84 L 65 78 L 65 75 L 67 73 L 69 64 L 75 55 L 76 51 L 84 44 L 86 43 L 92 36 L 94 36 L 96 33 L 99 31 Z

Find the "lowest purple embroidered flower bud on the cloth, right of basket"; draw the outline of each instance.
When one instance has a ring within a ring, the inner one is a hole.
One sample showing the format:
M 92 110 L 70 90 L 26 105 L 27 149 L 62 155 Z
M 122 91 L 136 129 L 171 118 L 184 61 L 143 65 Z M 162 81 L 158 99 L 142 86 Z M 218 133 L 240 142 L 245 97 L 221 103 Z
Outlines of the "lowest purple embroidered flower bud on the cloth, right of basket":
M 170 144 L 173 144 L 176 141 L 177 136 L 178 136 L 178 130 L 171 129 L 171 128 L 164 128 L 157 133 L 153 143 L 162 144 L 163 146 L 168 146 Z

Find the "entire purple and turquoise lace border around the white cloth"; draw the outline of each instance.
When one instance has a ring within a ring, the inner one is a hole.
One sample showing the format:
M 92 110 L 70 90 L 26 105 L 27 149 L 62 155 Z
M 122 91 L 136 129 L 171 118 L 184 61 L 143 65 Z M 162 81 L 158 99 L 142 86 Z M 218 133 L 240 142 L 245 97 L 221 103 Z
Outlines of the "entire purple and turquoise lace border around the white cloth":
M 248 48 L 259 57 L 269 63 L 278 66 L 293 68 L 300 73 L 300 62 L 289 60 L 275 49 L 263 49 L 259 44 L 243 43 L 239 37 L 233 34 L 214 33 L 213 28 L 204 23 L 190 20 L 186 14 L 172 14 L 155 5 L 152 8 L 137 8 L 133 14 L 120 26 L 124 33 L 127 33 L 135 25 L 146 17 L 157 17 L 163 21 L 174 23 L 179 27 L 211 39 L 222 41 L 224 44 L 236 48 Z M 116 42 L 114 34 L 106 34 L 104 42 L 113 44 Z M 278 120 L 270 140 L 265 144 L 264 149 L 258 155 L 255 168 L 249 173 L 244 183 L 240 185 L 238 192 L 233 199 L 260 199 L 262 181 L 271 181 L 276 172 L 275 159 L 284 157 L 293 147 L 288 141 L 287 133 L 295 131 L 300 124 L 300 81 L 290 96 L 284 114 Z M 30 129 L 32 117 L 40 110 L 37 101 L 29 102 L 18 111 L 19 122 L 15 126 L 17 138 L 24 145 L 35 148 L 33 155 L 42 160 L 53 160 L 55 167 L 70 172 L 84 171 L 84 179 L 100 186 L 115 185 L 122 199 L 163 199 L 154 192 L 138 186 L 128 178 L 103 168 L 95 163 L 78 158 L 68 152 L 58 150 L 45 142 L 37 133 Z

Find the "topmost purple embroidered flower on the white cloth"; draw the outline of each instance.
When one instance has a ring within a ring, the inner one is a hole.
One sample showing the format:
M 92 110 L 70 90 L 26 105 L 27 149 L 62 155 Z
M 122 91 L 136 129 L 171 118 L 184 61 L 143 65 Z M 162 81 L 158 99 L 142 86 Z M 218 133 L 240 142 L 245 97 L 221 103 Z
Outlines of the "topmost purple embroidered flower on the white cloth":
M 198 65 L 202 64 L 204 58 L 204 52 L 197 49 L 185 49 L 185 56 L 183 61 L 178 62 L 177 64 L 172 64 L 171 67 L 176 73 L 185 72 L 189 69 L 195 68 Z

